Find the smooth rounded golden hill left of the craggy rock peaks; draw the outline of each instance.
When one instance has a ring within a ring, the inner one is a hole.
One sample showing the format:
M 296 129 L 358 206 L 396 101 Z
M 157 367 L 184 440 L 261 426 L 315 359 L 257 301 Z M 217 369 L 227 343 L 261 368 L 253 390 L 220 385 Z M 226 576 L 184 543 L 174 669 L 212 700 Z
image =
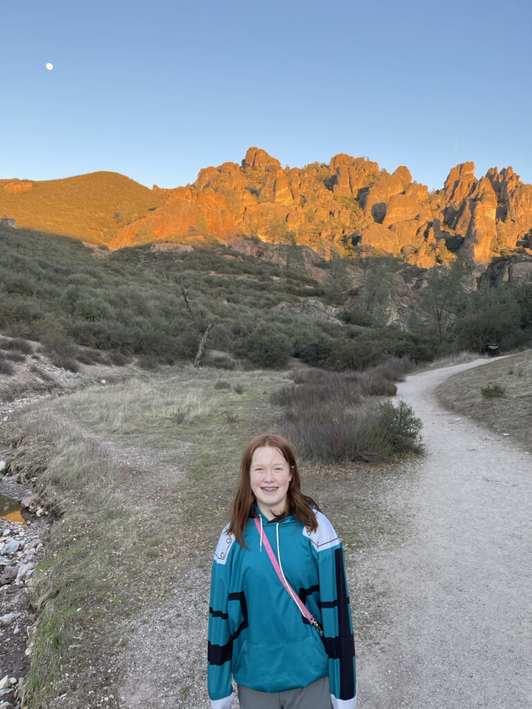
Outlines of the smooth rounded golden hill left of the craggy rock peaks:
M 122 225 L 157 206 L 151 189 L 117 172 L 31 182 L 0 180 L 0 216 L 18 227 L 106 243 Z

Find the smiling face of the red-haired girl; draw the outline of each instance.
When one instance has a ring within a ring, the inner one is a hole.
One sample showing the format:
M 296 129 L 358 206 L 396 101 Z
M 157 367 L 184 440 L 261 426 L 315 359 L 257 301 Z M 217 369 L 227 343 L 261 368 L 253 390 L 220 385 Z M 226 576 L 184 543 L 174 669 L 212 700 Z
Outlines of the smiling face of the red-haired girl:
M 269 520 L 287 511 L 287 492 L 292 480 L 290 466 L 272 446 L 256 448 L 250 465 L 250 484 L 257 506 Z

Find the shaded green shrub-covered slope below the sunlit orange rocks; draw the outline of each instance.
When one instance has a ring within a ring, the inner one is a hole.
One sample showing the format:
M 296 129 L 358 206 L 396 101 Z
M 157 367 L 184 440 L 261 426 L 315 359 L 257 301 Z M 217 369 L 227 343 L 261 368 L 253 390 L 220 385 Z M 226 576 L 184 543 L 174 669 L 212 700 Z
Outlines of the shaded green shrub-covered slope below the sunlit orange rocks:
M 66 367 L 80 345 L 94 350 L 95 361 L 102 350 L 139 357 L 145 367 L 193 361 L 209 324 L 205 361 L 223 367 L 236 358 L 282 368 L 293 357 L 364 369 L 387 357 L 431 359 L 438 350 L 427 328 L 384 328 L 406 322 L 420 303 L 406 282 L 415 267 L 397 261 L 382 272 L 385 259 L 377 259 L 364 274 L 318 259 L 312 277 L 290 263 L 287 247 L 262 249 L 261 256 L 219 244 L 140 246 L 95 258 L 76 240 L 0 226 L 0 332 L 38 340 Z

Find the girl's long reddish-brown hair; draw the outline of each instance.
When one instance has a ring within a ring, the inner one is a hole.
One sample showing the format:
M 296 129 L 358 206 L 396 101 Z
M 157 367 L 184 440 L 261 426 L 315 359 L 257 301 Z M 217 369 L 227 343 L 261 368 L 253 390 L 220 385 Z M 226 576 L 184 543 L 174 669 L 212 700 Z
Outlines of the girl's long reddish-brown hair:
M 250 440 L 242 454 L 238 486 L 231 509 L 231 524 L 227 529 L 227 533 L 233 533 L 235 539 L 243 547 L 246 547 L 244 542 L 245 525 L 248 524 L 250 517 L 256 516 L 255 495 L 251 490 L 250 479 L 251 459 L 257 448 L 265 446 L 277 448 L 290 466 L 292 480 L 289 482 L 287 492 L 288 513 L 299 520 L 299 522 L 303 523 L 311 532 L 315 532 L 318 529 L 318 520 L 316 520 L 316 513 L 313 507 L 316 510 L 319 510 L 319 507 L 311 497 L 301 492 L 301 479 L 299 477 L 299 470 L 297 469 L 297 462 L 292 446 L 286 438 L 282 436 L 275 433 L 262 433 L 261 435 L 255 436 L 253 440 Z

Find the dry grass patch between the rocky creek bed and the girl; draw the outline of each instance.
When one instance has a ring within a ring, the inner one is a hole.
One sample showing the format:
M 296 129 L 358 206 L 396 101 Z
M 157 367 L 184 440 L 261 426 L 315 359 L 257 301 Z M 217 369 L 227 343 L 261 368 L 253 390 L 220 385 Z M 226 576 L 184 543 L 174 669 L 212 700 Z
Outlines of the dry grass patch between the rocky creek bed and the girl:
M 28 705 L 51 708 L 65 693 L 84 705 L 79 677 L 94 657 L 109 666 L 128 619 L 210 557 L 238 455 L 270 428 L 267 397 L 288 376 L 225 372 L 230 388 L 217 389 L 216 370 L 184 367 L 41 401 L 2 428 L 23 440 L 12 471 L 37 476 L 58 515 L 31 587 L 40 623 Z

